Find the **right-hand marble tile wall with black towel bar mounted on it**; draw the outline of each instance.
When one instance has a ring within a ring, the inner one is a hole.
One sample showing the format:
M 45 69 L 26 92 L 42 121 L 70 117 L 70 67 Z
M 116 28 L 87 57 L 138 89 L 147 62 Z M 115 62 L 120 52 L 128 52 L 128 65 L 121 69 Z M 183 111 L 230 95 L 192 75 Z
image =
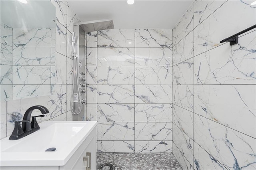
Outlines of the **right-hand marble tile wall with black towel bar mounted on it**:
M 256 169 L 251 1 L 195 1 L 173 29 L 173 154 L 183 169 Z

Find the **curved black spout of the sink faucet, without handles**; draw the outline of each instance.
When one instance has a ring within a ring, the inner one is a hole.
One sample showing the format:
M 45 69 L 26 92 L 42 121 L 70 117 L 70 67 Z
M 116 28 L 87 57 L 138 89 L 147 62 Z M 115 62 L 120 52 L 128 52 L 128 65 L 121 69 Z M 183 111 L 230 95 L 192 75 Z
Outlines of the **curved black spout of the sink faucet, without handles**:
M 24 114 L 24 117 L 23 117 L 23 121 L 30 121 L 30 117 L 31 117 L 31 114 L 32 112 L 35 110 L 35 109 L 38 109 L 41 111 L 42 114 L 46 114 L 46 113 L 49 113 L 48 109 L 44 106 L 41 106 L 41 105 L 37 105 L 37 106 L 32 106 L 30 107 Z M 22 123 L 22 129 L 24 132 L 26 131 L 29 131 L 31 130 L 31 125 L 30 125 L 30 122 L 29 123 Z

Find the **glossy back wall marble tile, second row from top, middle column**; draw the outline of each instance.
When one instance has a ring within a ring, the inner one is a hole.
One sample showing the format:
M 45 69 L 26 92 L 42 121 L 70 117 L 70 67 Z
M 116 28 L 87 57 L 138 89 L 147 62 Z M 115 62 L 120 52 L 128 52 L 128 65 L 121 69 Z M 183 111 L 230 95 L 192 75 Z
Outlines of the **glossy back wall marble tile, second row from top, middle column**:
M 98 48 L 98 66 L 133 66 L 135 48 Z

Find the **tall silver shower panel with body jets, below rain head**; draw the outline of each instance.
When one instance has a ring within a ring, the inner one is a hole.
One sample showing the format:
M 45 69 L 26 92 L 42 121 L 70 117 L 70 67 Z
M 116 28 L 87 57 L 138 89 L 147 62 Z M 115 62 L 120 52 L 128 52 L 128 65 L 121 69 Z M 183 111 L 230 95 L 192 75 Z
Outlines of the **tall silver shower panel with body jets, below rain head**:
M 79 100 L 81 100 L 81 108 L 79 110 L 81 110 L 81 112 L 78 115 L 73 114 L 73 121 L 85 121 L 85 103 L 86 103 L 86 66 L 85 66 L 85 32 L 84 30 L 80 27 L 80 26 L 74 26 L 74 33 L 76 34 L 76 56 L 78 57 L 78 59 L 73 61 L 76 61 L 76 65 L 78 68 L 78 81 L 73 81 L 74 83 L 74 87 L 78 87 L 78 91 L 80 93 L 76 93 L 76 95 L 80 94 L 79 96 L 74 96 L 74 94 L 72 94 L 72 98 L 73 101 L 71 103 L 71 109 L 72 109 L 72 105 L 74 107 L 75 111 L 78 111 L 79 109 Z M 76 68 L 75 63 L 73 62 L 73 73 L 75 73 L 76 70 L 74 70 Z M 78 82 L 78 86 L 77 86 L 77 82 Z M 78 112 L 76 112 L 78 113 Z

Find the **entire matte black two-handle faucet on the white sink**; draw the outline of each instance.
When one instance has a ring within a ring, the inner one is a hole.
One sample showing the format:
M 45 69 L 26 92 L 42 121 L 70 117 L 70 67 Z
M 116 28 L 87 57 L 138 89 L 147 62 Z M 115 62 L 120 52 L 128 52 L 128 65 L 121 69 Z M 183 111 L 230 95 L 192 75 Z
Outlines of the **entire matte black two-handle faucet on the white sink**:
M 39 116 L 32 116 L 32 121 L 30 123 L 30 117 L 31 113 L 38 109 L 41 111 L 42 115 Z M 36 121 L 36 117 L 44 117 L 44 114 L 49 113 L 48 109 L 44 106 L 32 106 L 30 107 L 23 116 L 23 121 L 16 121 L 14 122 L 14 130 L 12 132 L 12 135 L 10 136 L 9 140 L 17 140 L 20 138 L 23 138 L 24 136 L 27 136 L 28 134 L 31 134 L 37 130 L 40 129 L 38 126 L 38 123 Z M 20 123 L 22 123 L 22 127 L 20 127 Z

